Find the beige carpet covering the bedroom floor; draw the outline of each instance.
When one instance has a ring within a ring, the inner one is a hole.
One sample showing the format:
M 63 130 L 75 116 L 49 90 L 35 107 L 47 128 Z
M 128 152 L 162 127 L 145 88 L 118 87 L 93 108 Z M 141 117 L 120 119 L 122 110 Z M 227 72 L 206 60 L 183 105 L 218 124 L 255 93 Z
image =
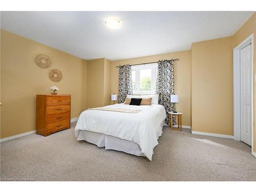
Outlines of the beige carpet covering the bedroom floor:
M 1 179 L 36 181 L 256 181 L 250 147 L 164 127 L 152 162 L 77 141 L 72 129 L 1 143 Z

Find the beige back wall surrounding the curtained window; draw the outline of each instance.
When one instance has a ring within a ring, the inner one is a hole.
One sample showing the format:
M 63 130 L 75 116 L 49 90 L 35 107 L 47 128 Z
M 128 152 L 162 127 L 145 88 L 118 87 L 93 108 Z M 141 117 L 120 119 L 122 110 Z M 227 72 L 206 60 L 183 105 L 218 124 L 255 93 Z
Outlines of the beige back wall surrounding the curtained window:
M 190 125 L 190 66 L 191 52 L 182 51 L 146 57 L 138 57 L 125 60 L 116 60 L 111 62 L 111 93 L 118 94 L 118 68 L 116 66 L 126 64 L 136 64 L 143 62 L 154 62 L 162 59 L 179 58 L 175 61 L 175 93 L 179 95 L 180 102 L 176 104 L 176 110 L 183 112 L 183 125 Z

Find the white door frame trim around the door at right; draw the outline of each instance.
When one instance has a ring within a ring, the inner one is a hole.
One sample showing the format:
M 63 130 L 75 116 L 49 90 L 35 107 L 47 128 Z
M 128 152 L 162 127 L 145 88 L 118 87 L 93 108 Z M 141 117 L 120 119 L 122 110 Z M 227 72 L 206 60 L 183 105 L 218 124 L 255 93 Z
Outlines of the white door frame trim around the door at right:
M 234 115 L 234 140 L 240 141 L 240 50 L 251 44 L 251 154 L 253 155 L 253 138 L 254 138 L 254 101 L 253 101 L 253 33 L 247 37 L 241 44 L 233 49 L 233 115 Z

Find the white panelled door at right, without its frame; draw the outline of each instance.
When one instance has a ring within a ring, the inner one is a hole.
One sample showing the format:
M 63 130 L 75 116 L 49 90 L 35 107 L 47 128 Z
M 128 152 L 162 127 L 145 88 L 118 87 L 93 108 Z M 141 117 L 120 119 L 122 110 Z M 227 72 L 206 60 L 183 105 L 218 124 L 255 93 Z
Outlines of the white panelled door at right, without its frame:
M 251 44 L 240 50 L 241 141 L 251 145 Z

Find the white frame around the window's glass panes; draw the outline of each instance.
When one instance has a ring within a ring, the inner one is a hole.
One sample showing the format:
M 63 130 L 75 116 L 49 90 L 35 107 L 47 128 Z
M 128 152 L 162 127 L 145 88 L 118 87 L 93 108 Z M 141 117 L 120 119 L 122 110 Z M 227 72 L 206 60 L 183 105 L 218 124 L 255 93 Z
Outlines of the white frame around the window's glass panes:
M 151 91 L 140 91 L 140 70 L 142 69 L 151 69 Z M 152 95 L 156 94 L 156 69 L 157 69 L 157 62 L 146 64 L 146 65 L 137 65 L 132 66 L 132 71 L 136 71 L 136 80 L 135 80 L 135 90 L 133 90 L 133 94 L 135 95 Z

